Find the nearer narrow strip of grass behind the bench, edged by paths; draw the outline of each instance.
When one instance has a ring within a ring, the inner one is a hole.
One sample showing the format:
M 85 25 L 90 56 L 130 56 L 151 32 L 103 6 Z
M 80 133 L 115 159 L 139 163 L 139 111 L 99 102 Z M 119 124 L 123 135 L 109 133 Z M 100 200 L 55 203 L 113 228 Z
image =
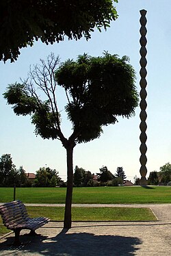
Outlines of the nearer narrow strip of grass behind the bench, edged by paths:
M 64 207 L 31 207 L 27 206 L 30 217 L 46 216 L 54 221 L 64 220 Z M 149 208 L 127 207 L 73 207 L 74 221 L 143 221 L 156 220 Z M 0 235 L 10 232 L 0 218 Z

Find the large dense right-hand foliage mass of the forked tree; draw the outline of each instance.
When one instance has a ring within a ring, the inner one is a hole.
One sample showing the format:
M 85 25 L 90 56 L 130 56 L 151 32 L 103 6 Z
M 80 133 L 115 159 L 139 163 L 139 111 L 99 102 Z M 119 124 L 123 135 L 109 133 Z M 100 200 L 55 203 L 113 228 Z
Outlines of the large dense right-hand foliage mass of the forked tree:
M 105 53 L 103 57 L 79 55 L 77 61 L 64 62 L 56 72 L 72 101 L 66 105 L 76 141 L 98 138 L 102 126 L 114 124 L 117 116 L 131 117 L 137 107 L 135 71 L 128 58 Z

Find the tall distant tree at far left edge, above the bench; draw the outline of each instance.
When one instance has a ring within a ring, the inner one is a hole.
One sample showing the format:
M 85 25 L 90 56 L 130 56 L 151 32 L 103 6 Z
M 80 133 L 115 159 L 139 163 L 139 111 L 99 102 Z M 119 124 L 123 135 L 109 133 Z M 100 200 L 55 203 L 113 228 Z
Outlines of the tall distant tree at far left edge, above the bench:
M 12 186 L 16 181 L 18 172 L 14 164 L 12 163 L 12 157 L 10 154 L 4 154 L 0 158 L 0 181 L 1 187 Z

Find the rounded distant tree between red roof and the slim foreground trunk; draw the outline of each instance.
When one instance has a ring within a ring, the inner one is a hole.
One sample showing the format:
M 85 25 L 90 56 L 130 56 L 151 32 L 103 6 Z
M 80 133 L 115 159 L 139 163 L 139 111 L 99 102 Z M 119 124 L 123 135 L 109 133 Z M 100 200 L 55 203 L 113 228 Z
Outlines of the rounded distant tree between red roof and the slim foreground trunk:
M 36 187 L 55 187 L 60 185 L 62 179 L 58 176 L 58 172 L 49 167 L 41 167 L 36 171 L 36 179 L 34 185 Z

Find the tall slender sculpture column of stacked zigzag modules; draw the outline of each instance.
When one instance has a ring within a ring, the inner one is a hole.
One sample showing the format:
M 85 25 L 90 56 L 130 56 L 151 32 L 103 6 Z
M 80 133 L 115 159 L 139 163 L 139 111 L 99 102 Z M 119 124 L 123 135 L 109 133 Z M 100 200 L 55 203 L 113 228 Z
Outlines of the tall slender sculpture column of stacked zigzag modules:
M 140 24 L 141 24 L 141 28 L 140 28 L 140 34 L 141 34 L 141 38 L 140 38 L 140 44 L 141 44 L 141 49 L 140 49 L 140 55 L 141 55 L 141 58 L 140 58 L 140 65 L 141 65 L 141 69 L 140 69 L 140 77 L 141 77 L 140 79 L 140 86 L 141 86 L 141 90 L 140 90 L 140 98 L 141 98 L 141 101 L 140 101 L 140 109 L 141 109 L 141 112 L 140 112 L 140 120 L 141 120 L 141 123 L 140 123 L 140 131 L 141 131 L 140 174 L 142 176 L 140 179 L 140 185 L 147 185 L 147 181 L 146 181 L 146 172 L 147 172 L 147 169 L 146 169 L 146 162 L 147 162 L 147 158 L 146 158 L 146 151 L 147 151 L 147 147 L 146 147 L 146 139 L 147 139 L 147 136 L 146 136 L 146 128 L 147 128 L 147 125 L 146 125 L 146 117 L 147 117 L 147 114 L 146 114 L 146 106 L 147 106 L 147 103 L 146 103 L 146 95 L 147 95 L 147 92 L 146 92 L 146 85 L 147 85 L 147 82 L 146 82 L 146 74 L 147 74 L 147 71 L 146 71 L 146 64 L 147 64 L 147 61 L 146 61 L 146 53 L 147 53 L 146 51 L 146 42 L 147 42 L 146 10 L 141 10 L 140 14 L 141 14 L 141 18 L 140 18 Z

